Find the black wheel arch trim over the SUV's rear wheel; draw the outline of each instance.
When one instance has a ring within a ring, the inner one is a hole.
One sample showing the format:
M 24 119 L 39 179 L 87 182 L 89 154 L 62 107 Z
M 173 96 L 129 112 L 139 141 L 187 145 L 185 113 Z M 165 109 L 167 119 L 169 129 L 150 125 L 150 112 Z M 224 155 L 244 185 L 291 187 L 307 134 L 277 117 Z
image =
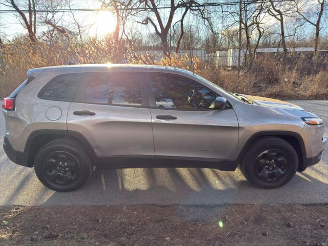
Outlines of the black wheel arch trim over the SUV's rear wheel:
M 40 148 L 48 142 L 59 138 L 71 138 L 80 142 L 91 158 L 92 163 L 96 163 L 96 153 L 90 142 L 81 133 L 67 130 L 36 130 L 29 135 L 24 149 L 27 167 L 34 166 L 34 159 Z

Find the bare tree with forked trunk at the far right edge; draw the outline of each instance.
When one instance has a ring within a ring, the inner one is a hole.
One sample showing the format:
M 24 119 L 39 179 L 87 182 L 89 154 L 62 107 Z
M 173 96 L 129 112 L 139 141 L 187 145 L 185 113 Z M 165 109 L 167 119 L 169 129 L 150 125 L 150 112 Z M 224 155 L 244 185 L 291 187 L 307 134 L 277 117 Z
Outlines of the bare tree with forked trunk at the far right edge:
M 315 32 L 315 38 L 314 38 L 314 55 L 313 55 L 313 59 L 316 60 L 317 59 L 317 53 L 318 53 L 318 43 L 319 43 L 319 35 L 320 35 L 320 21 L 321 21 L 321 17 L 323 14 L 323 10 L 324 10 L 324 2 L 325 0 L 317 0 L 318 4 L 319 4 L 319 8 L 313 10 L 313 8 L 311 9 L 305 9 L 304 11 L 302 11 L 301 9 L 303 9 L 303 6 L 300 6 L 300 2 L 296 2 L 296 11 L 297 13 L 308 23 L 310 23 L 312 26 L 315 27 L 316 32 Z M 317 16 L 316 20 L 312 20 L 313 17 Z

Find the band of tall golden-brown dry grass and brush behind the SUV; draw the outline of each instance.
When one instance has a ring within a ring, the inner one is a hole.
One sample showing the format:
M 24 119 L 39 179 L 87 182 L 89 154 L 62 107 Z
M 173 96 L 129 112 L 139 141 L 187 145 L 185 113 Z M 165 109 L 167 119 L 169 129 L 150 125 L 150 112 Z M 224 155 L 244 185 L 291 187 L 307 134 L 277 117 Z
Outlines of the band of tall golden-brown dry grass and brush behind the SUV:
M 124 56 L 121 54 L 124 53 Z M 108 40 L 90 39 L 80 43 L 69 39 L 31 43 L 17 38 L 0 49 L 0 98 L 8 96 L 26 79 L 28 69 L 66 65 L 68 61 L 79 64 L 118 63 L 156 64 L 191 70 L 213 81 L 222 88 L 243 94 L 256 94 L 281 99 L 326 99 L 328 97 L 328 59 L 322 57 L 317 64 L 306 56 L 291 57 L 285 70 L 277 57 L 258 57 L 252 69 L 241 71 L 215 68 L 197 57 L 153 57 L 140 55 L 133 47 L 118 52 Z

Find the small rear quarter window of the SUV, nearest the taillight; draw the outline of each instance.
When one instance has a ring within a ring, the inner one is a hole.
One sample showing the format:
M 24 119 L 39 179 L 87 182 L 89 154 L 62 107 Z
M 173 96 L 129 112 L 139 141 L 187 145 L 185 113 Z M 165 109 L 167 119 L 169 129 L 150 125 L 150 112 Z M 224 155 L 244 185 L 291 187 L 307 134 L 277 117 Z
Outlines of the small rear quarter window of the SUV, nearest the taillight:
M 54 77 L 40 91 L 39 97 L 49 100 L 72 101 L 82 74 L 63 74 Z

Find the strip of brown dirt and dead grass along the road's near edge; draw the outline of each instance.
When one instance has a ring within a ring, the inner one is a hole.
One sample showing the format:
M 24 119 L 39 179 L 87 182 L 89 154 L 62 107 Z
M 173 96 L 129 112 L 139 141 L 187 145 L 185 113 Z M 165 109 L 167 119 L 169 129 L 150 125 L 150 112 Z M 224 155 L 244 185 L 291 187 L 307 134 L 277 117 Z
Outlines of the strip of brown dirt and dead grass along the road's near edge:
M 328 206 L 0 207 L 1 245 L 328 245 Z

